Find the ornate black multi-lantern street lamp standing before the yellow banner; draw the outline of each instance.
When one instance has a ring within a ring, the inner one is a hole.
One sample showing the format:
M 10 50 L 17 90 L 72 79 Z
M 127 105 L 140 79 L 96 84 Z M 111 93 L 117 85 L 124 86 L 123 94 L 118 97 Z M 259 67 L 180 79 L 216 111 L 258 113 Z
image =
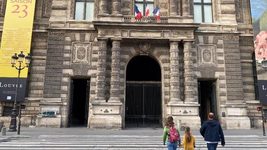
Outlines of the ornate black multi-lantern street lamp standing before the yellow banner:
M 25 58 L 25 64 L 26 66 L 21 68 L 21 63 L 23 63 L 23 59 Z M 16 67 L 15 64 L 16 62 L 19 62 L 19 67 Z M 20 76 L 20 70 L 23 70 L 25 67 L 29 67 L 29 64 L 31 62 L 31 56 L 28 53 L 28 55 L 25 57 L 25 55 L 23 54 L 23 51 L 20 52 L 20 54 L 15 53 L 15 55 L 13 55 L 11 57 L 11 64 L 12 67 L 15 67 L 16 70 L 18 70 L 18 82 L 17 82 L 17 89 L 16 89 L 16 96 L 15 96 L 15 102 L 14 102 L 14 107 L 12 109 L 12 114 L 11 114 L 11 120 L 10 120 L 10 125 L 9 125 L 9 132 L 16 132 L 17 131 L 17 96 L 18 96 L 18 84 L 19 84 L 19 76 Z

